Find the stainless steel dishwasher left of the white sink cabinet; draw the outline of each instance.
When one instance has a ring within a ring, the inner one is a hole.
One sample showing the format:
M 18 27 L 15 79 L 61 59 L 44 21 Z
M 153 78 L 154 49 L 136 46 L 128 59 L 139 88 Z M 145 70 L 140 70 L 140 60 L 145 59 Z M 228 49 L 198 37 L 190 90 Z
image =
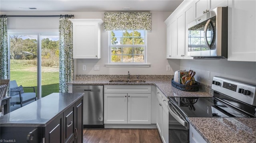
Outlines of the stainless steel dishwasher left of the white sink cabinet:
M 104 127 L 103 85 L 73 85 L 73 92 L 84 94 L 84 127 Z

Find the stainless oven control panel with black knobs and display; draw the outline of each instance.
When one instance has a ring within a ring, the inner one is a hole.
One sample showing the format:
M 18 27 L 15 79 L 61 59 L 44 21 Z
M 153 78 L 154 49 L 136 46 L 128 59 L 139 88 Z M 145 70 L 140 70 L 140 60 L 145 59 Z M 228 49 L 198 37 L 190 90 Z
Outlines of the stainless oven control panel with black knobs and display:
M 256 106 L 256 85 L 214 76 L 212 89 L 252 106 Z

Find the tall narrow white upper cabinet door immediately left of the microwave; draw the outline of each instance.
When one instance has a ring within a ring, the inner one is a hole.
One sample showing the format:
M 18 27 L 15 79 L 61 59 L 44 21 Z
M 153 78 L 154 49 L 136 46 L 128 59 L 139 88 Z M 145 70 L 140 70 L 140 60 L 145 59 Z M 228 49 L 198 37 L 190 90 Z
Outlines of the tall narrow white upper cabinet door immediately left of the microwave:
M 183 59 L 185 56 L 185 24 L 183 12 L 177 16 L 177 59 Z

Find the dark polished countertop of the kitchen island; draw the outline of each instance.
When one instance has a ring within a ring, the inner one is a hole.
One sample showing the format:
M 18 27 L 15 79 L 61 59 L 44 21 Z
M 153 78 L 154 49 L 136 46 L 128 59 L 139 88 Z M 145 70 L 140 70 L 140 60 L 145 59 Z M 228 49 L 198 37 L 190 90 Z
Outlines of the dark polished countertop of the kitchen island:
M 0 126 L 45 127 L 84 93 L 52 93 L 0 117 Z

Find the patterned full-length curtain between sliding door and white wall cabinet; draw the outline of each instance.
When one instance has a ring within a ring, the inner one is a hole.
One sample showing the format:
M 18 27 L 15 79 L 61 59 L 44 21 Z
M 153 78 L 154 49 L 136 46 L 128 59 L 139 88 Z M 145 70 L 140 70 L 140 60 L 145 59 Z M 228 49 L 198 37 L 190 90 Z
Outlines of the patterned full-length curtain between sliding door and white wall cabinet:
M 69 18 L 59 21 L 60 92 L 68 92 L 68 82 L 74 80 L 73 30 Z

